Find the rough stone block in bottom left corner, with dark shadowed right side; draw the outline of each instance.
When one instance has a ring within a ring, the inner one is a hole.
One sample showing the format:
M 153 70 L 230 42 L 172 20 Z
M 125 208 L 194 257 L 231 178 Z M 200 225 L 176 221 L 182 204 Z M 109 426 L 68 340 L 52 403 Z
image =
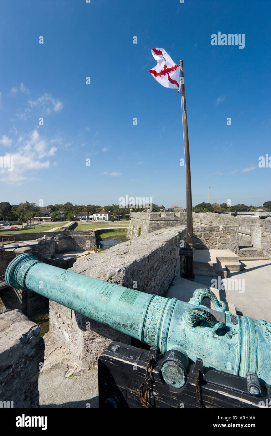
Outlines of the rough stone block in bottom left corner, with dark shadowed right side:
M 1 313 L 0 401 L 13 401 L 14 408 L 39 407 L 38 376 L 43 356 L 40 327 L 20 310 Z

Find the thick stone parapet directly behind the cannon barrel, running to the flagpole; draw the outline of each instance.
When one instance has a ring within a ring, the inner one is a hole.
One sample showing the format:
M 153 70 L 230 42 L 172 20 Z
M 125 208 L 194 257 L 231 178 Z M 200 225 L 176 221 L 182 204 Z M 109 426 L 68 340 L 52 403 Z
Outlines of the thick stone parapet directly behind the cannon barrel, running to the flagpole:
M 163 296 L 181 273 L 180 240 L 186 240 L 184 227 L 160 230 L 77 259 L 70 270 Z M 97 357 L 111 341 L 130 343 L 130 337 L 54 301 L 50 301 L 49 319 L 50 333 L 63 342 L 78 364 L 87 368 L 97 364 Z

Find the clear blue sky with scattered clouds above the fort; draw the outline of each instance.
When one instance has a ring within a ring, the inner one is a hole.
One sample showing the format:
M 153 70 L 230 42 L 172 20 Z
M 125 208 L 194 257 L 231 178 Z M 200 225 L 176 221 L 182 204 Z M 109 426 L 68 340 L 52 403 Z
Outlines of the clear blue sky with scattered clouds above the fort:
M 209 186 L 211 203 L 271 200 L 258 167 L 271 157 L 270 14 L 264 0 L 2 2 L 0 156 L 14 169 L 0 168 L 0 201 L 185 207 L 181 97 L 148 72 L 153 47 L 184 61 L 193 205 Z M 219 31 L 245 47 L 212 46 Z

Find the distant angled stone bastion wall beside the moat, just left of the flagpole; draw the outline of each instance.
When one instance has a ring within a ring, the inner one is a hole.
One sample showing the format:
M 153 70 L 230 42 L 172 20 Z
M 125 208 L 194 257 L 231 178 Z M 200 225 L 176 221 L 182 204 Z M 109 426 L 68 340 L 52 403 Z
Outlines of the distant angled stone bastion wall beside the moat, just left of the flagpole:
M 186 213 L 132 212 L 127 237 L 137 238 L 161 228 L 186 225 Z

